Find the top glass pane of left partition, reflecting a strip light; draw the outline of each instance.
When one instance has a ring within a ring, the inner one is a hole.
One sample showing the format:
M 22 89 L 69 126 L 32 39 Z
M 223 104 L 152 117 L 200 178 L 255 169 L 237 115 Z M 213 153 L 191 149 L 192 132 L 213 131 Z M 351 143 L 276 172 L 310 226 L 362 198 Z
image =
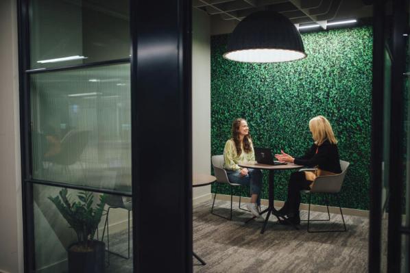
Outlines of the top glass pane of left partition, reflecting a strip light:
M 33 0 L 29 9 L 32 69 L 130 57 L 128 0 Z

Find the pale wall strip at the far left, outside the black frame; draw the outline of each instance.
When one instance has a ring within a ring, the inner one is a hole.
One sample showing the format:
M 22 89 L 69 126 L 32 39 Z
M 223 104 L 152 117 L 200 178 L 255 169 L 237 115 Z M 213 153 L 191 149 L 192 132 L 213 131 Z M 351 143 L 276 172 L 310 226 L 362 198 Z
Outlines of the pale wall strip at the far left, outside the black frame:
M 16 0 L 0 1 L 0 271 L 23 272 Z

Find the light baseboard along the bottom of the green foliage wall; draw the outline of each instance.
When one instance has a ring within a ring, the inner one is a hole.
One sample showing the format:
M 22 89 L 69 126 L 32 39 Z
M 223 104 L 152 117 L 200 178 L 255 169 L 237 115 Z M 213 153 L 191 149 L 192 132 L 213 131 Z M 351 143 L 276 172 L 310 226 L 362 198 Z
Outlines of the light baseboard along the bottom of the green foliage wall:
M 212 198 L 215 194 L 212 194 Z M 224 201 L 230 201 L 230 195 L 228 194 L 217 194 L 217 200 L 224 200 Z M 239 196 L 233 196 L 232 200 L 234 202 L 239 202 Z M 241 197 L 241 203 L 249 203 L 250 198 L 249 197 Z M 275 207 L 282 207 L 283 206 L 283 201 L 275 200 L 274 206 Z M 261 205 L 267 206 L 268 200 L 267 199 L 261 199 Z M 302 210 L 308 210 L 309 209 L 309 204 L 300 204 L 300 209 Z M 349 208 L 341 208 L 343 211 L 343 214 L 349 215 L 349 216 L 360 216 L 360 217 L 365 217 L 369 218 L 369 211 L 365 211 L 362 209 L 349 209 Z M 322 205 L 311 205 L 311 211 L 319 211 L 319 212 L 327 212 L 326 206 Z M 330 213 L 335 213 L 335 214 L 340 214 L 339 207 L 329 207 Z

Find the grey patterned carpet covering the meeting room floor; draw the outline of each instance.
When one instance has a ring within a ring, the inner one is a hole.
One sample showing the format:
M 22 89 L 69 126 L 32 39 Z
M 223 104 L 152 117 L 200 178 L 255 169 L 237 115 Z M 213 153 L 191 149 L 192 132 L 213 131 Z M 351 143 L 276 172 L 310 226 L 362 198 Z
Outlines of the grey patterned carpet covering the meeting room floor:
M 261 222 L 244 224 L 250 213 L 234 203 L 232 221 L 210 214 L 210 201 L 193 208 L 193 250 L 206 265 L 193 259 L 193 271 L 204 272 L 367 272 L 368 220 L 345 216 L 346 233 L 307 233 L 306 222 L 300 230 L 276 223 L 269 218 L 261 234 Z M 230 203 L 216 201 L 217 213 L 229 214 Z M 331 214 L 331 222 L 318 222 L 315 229 L 340 229 L 341 217 Z M 307 211 L 302 211 L 307 218 Z M 313 212 L 311 218 L 326 218 L 327 213 Z M 110 234 L 110 248 L 125 254 L 127 233 Z M 132 259 L 110 255 L 106 272 L 132 272 Z

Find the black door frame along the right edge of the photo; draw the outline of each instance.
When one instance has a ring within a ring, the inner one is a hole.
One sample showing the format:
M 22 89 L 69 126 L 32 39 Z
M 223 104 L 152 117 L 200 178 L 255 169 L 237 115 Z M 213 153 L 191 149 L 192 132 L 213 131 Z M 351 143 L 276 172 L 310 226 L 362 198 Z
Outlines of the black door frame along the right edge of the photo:
M 373 44 L 373 93 L 372 93 L 372 164 L 370 183 L 370 234 L 369 234 L 369 272 L 381 272 L 381 192 L 383 162 L 383 108 L 385 47 L 391 50 L 391 110 L 389 113 L 389 219 L 387 226 L 387 272 L 400 272 L 401 239 L 409 235 L 403 228 L 402 189 L 405 175 L 405 57 L 409 34 L 408 8 L 405 0 L 392 3 L 392 16 L 387 16 L 385 0 L 374 1 L 374 44 Z M 388 18 L 388 19 L 387 19 Z M 390 27 L 391 37 L 387 27 Z M 389 26 L 388 26 L 389 25 Z M 391 38 L 391 43 L 387 40 Z M 390 47 L 391 46 L 391 47 Z M 408 137 L 408 136 L 407 136 Z M 410 198 L 410 196 L 407 196 Z

